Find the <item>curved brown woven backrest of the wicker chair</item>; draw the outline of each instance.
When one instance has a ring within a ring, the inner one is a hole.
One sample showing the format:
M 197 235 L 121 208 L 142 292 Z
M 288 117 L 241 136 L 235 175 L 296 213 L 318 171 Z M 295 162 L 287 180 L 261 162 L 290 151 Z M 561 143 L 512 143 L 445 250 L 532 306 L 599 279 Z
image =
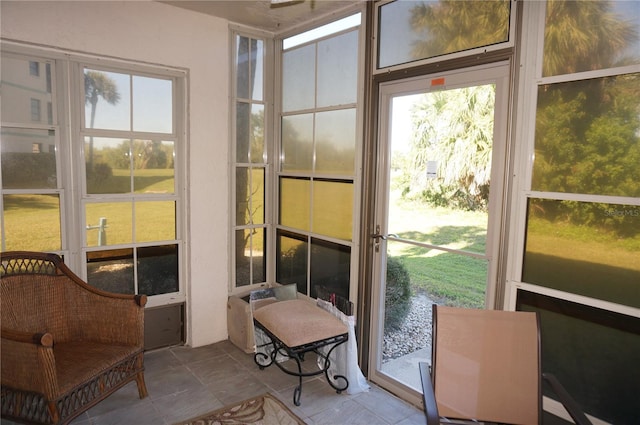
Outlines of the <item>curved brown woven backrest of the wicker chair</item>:
M 55 254 L 1 253 L 0 291 L 3 329 L 48 332 L 56 342 L 143 345 L 146 296 L 94 288 Z

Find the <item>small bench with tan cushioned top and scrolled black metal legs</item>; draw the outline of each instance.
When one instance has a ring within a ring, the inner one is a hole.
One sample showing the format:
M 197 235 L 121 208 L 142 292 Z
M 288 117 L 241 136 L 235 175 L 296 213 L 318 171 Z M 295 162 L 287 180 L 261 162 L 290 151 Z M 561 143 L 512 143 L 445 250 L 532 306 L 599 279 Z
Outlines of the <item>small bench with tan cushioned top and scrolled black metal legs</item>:
M 331 352 L 349 338 L 348 328 L 340 319 L 307 300 L 294 299 L 273 302 L 256 309 L 253 312 L 253 320 L 270 339 L 270 342 L 265 344 L 268 346 L 268 354 L 258 351 L 254 361 L 260 369 L 275 364 L 283 372 L 298 377 L 298 386 L 293 393 L 293 403 L 296 406 L 300 405 L 302 378 L 305 376 L 324 373 L 327 382 L 336 392 L 341 393 L 348 388 L 349 381 L 346 377 L 329 376 Z M 319 351 L 322 347 L 329 348 L 326 354 Z M 300 362 L 304 360 L 304 354 L 307 352 L 315 352 L 324 360 L 321 369 L 302 372 Z M 278 355 L 286 355 L 293 359 L 297 371 L 287 369 L 277 361 Z M 339 383 L 342 385 L 338 385 Z

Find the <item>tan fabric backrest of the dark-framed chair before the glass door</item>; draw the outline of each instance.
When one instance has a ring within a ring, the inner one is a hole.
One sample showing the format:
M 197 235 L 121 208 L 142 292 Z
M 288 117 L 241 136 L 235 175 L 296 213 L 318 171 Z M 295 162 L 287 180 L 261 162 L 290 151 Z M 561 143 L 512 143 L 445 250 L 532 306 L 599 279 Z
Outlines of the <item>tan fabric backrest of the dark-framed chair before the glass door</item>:
M 535 313 L 434 305 L 433 320 L 432 378 L 441 416 L 539 423 Z

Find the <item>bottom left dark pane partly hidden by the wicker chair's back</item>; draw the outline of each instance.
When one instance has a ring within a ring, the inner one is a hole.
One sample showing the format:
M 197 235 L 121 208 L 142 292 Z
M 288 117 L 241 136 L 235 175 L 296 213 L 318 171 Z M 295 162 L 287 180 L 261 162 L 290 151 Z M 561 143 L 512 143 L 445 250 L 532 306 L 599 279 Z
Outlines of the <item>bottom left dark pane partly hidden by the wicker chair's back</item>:
M 133 249 L 87 252 L 87 283 L 103 291 L 134 294 Z

